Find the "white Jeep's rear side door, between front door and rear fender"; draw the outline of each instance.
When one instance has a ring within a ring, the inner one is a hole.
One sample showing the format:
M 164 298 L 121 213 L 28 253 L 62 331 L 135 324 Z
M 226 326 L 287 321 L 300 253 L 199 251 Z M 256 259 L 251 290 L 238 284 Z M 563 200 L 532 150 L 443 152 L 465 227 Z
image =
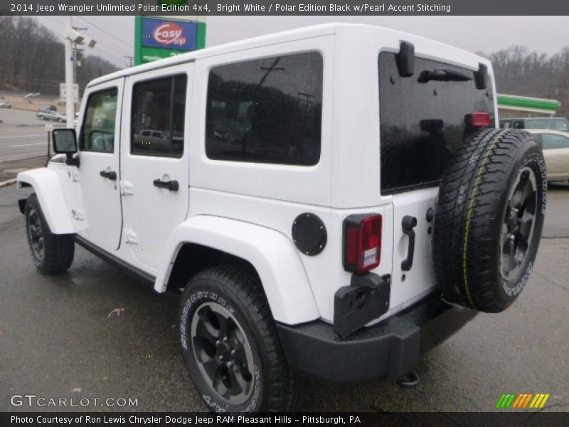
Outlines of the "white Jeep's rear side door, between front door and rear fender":
M 188 213 L 188 93 L 193 64 L 127 78 L 122 147 L 123 241 L 154 274 Z

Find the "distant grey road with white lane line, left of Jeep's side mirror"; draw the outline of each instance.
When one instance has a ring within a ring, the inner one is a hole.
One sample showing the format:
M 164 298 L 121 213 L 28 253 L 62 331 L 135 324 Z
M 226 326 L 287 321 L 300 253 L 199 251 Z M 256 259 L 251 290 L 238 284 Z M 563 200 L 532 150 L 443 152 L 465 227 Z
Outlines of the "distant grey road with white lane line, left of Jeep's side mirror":
M 0 108 L 0 162 L 28 159 L 47 152 L 46 123 L 36 112 Z

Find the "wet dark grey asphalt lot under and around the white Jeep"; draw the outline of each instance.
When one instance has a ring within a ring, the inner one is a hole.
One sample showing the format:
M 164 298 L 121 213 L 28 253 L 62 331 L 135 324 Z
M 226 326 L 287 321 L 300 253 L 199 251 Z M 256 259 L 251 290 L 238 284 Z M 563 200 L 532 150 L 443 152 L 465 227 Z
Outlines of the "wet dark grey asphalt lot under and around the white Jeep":
M 39 275 L 15 206 L 14 186 L 0 189 L 0 411 L 46 409 L 11 406 L 14 394 L 138 399 L 73 410 L 203 410 L 179 353 L 178 296 L 156 295 L 81 248 L 68 274 Z M 569 186 L 549 191 L 544 238 L 519 300 L 427 354 L 417 387 L 308 381 L 302 409 L 492 411 L 503 393 L 549 393 L 544 411 L 568 411 L 568 206 Z M 109 317 L 115 308 L 124 312 Z

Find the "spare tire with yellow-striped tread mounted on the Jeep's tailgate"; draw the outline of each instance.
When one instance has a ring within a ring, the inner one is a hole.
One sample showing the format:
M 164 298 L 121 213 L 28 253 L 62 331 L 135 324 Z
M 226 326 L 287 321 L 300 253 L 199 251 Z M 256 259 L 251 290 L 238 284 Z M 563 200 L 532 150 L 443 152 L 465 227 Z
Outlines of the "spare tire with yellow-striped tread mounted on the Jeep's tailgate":
M 435 215 L 435 273 L 445 300 L 501 312 L 533 268 L 546 210 L 546 164 L 517 130 L 467 137 L 442 176 Z

